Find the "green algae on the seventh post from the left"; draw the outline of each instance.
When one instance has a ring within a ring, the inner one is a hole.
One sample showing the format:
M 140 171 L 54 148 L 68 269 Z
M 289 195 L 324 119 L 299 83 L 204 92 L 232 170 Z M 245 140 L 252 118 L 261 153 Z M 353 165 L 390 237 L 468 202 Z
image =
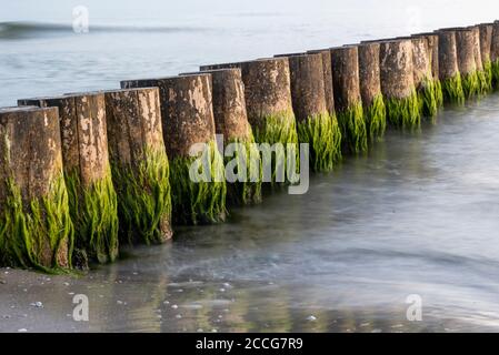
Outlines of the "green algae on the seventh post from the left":
M 331 171 L 341 161 L 341 131 L 335 115 L 323 113 L 299 122 L 298 139 L 310 144 L 310 165 L 315 172 Z

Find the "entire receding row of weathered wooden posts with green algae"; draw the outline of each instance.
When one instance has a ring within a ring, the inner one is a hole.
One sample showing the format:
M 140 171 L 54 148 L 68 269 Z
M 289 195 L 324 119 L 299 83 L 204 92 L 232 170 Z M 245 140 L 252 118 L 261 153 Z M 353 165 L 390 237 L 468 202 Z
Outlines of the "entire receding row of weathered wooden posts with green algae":
M 328 172 L 387 126 L 418 130 L 445 102 L 498 87 L 496 21 L 19 100 L 0 109 L 0 266 L 108 263 L 122 243 L 163 243 L 172 225 L 260 202 L 261 179 L 191 181 L 196 143 L 223 173 L 216 134 L 247 152 L 309 143 L 311 170 Z

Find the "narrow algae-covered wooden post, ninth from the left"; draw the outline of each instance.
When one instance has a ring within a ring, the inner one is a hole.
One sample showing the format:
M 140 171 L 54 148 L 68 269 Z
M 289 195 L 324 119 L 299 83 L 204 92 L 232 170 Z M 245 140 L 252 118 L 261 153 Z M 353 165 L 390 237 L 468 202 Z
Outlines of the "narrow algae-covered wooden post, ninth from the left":
M 371 142 L 381 140 L 387 128 L 387 109 L 381 93 L 379 48 L 376 42 L 359 44 L 359 82 L 367 131 Z

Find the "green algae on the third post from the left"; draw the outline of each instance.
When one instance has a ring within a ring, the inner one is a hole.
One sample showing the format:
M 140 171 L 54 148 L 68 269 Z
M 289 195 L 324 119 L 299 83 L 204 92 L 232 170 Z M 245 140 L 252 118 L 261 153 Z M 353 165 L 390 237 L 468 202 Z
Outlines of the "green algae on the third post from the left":
M 164 150 L 147 149 L 137 166 L 112 164 L 120 236 L 129 243 L 163 243 L 171 235 L 171 196 Z

